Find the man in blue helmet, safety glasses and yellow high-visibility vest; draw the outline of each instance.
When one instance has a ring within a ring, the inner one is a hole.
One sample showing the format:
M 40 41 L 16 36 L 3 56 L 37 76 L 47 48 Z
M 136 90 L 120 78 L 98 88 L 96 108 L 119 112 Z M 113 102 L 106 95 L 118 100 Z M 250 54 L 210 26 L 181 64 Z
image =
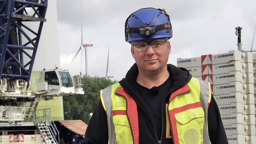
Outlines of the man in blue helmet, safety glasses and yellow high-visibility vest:
M 228 144 L 209 82 L 167 64 L 171 37 L 164 9 L 127 18 L 125 40 L 136 63 L 101 90 L 84 144 Z

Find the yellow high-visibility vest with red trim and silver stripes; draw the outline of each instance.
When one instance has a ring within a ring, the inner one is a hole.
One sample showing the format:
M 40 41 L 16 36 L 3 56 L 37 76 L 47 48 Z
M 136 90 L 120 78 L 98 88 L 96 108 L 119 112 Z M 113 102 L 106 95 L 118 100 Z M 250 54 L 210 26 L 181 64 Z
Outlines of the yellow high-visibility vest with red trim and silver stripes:
M 207 115 L 210 83 L 193 78 L 174 91 L 166 105 L 166 137 L 174 144 L 210 144 Z M 109 144 L 139 144 L 137 104 L 119 83 L 101 90 L 108 120 Z M 171 135 L 172 133 L 172 135 Z

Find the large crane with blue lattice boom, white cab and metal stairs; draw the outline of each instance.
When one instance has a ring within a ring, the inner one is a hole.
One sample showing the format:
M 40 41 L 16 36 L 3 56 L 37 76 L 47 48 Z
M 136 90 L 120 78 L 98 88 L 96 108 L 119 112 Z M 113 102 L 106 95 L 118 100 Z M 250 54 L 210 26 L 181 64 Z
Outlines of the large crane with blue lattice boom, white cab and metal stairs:
M 81 77 L 68 70 L 42 70 L 31 90 L 48 0 L 0 0 L 0 144 L 58 144 L 59 132 L 41 100 L 84 94 Z M 35 23 L 31 28 L 27 23 Z M 78 86 L 78 88 L 76 88 Z

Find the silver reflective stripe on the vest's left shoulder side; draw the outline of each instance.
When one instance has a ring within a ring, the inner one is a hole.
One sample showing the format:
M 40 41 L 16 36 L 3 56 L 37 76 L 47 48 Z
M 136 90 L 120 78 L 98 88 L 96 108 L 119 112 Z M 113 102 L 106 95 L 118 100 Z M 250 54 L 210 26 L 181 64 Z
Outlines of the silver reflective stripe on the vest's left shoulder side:
M 114 133 L 113 113 L 112 113 L 112 99 L 111 99 L 112 85 L 102 90 L 102 97 L 106 107 L 108 131 L 109 131 L 109 144 L 117 144 Z

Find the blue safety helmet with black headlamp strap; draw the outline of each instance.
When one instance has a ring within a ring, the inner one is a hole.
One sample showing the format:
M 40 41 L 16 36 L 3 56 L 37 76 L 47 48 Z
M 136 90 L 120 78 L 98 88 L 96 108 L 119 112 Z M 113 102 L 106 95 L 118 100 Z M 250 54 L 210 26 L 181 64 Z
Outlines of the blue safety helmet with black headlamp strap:
M 165 9 L 143 8 L 131 14 L 125 22 L 125 40 L 171 38 L 172 25 Z

